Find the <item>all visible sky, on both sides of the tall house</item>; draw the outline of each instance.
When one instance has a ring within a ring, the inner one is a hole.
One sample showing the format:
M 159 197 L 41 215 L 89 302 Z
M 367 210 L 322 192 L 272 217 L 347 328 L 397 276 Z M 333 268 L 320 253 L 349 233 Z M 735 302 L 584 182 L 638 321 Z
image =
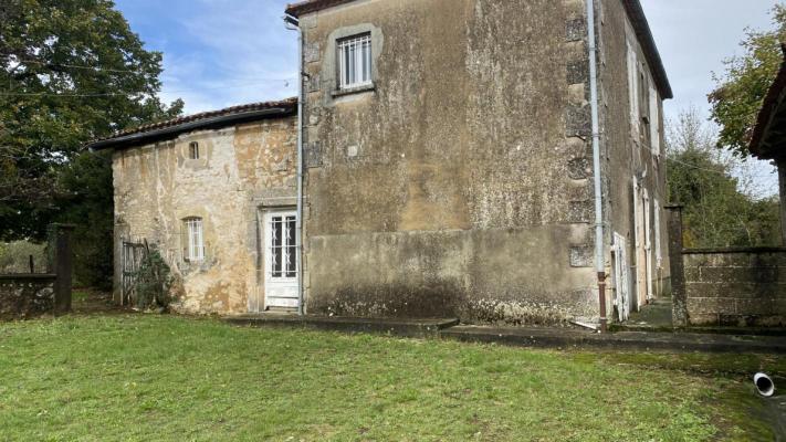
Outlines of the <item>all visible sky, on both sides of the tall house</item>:
M 296 33 L 281 17 L 287 0 L 116 0 L 147 49 L 164 53 L 163 97 L 186 112 L 297 94 Z M 708 115 L 712 72 L 740 52 L 745 28 L 767 29 L 774 0 L 641 0 L 675 98 L 667 117 L 690 106 Z M 777 189 L 772 168 L 752 165 L 758 193 Z

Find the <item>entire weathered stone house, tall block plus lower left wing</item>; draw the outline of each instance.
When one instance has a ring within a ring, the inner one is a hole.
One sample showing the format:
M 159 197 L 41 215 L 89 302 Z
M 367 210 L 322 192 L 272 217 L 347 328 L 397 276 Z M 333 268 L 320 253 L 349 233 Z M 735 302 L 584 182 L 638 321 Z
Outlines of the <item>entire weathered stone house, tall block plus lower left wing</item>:
M 625 319 L 668 292 L 672 93 L 638 0 L 591 1 L 594 20 L 588 1 L 290 6 L 300 122 L 256 104 L 280 112 L 93 145 L 115 149 L 117 254 L 159 244 L 191 312 Z

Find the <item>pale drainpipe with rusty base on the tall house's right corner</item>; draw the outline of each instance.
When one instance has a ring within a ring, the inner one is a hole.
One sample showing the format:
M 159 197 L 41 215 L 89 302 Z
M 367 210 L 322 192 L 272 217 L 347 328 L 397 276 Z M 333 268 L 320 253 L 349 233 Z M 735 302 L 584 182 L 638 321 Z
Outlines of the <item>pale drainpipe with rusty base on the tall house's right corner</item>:
M 600 177 L 600 124 L 598 120 L 598 62 L 595 39 L 595 1 L 587 0 L 587 39 L 589 41 L 589 104 L 593 114 L 593 165 L 595 168 L 595 266 L 598 273 L 600 330 L 607 330 L 606 252 L 604 250 L 604 196 Z

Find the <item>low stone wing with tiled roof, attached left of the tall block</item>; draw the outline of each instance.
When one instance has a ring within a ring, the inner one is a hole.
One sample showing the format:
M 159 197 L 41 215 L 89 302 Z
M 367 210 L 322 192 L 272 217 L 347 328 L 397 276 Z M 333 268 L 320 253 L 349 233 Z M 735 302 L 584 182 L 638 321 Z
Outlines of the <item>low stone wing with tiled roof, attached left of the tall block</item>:
M 230 107 L 92 145 L 114 149 L 116 299 L 125 302 L 124 274 L 147 241 L 179 276 L 179 311 L 263 308 L 261 269 L 272 263 L 261 261 L 258 234 L 265 217 L 279 229 L 292 219 L 296 107 L 294 98 Z

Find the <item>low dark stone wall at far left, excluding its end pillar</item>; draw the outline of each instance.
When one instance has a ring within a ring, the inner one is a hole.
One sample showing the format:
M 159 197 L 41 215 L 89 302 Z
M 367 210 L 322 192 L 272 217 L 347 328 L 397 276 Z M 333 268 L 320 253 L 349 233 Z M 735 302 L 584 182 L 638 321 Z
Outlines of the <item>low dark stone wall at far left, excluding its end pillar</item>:
M 53 274 L 0 275 L 0 319 L 24 319 L 54 311 Z

